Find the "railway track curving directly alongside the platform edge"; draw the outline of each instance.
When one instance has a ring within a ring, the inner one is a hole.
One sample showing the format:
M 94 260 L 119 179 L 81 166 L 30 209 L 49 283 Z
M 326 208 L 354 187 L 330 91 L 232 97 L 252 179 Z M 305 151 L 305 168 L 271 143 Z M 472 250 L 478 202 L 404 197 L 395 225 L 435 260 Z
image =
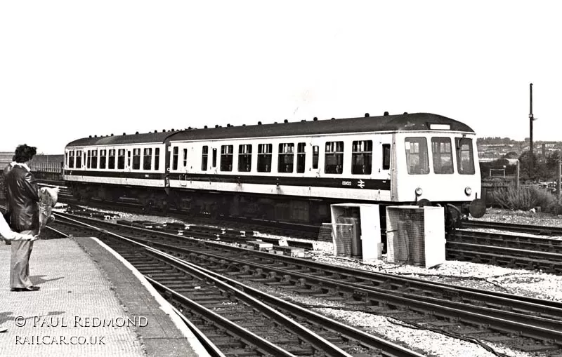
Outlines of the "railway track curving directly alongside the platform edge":
M 95 222 L 58 219 L 74 234 L 100 234 Z M 145 274 L 223 356 L 422 356 L 162 252 L 154 241 L 143 244 L 138 236 L 145 233 L 132 235 L 103 229 L 103 241 Z

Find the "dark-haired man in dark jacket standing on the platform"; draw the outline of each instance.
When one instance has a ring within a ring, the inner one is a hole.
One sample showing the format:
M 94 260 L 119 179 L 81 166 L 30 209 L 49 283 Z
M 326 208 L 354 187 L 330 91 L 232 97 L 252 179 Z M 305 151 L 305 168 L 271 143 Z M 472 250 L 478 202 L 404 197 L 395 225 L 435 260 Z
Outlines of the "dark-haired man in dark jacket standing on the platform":
M 6 201 L 10 207 L 11 228 L 20 234 L 39 233 L 39 190 L 28 164 L 37 154 L 36 147 L 22 144 L 15 149 L 15 165 L 6 175 Z M 30 280 L 32 241 L 12 243 L 10 288 L 12 291 L 37 291 Z

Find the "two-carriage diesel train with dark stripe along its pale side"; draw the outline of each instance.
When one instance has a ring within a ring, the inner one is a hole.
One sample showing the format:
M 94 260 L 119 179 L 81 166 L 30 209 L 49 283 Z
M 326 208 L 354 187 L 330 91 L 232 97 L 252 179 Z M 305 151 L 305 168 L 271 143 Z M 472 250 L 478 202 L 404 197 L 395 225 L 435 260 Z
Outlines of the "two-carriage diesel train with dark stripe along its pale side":
M 65 147 L 63 178 L 84 200 L 193 215 L 320 224 L 332 203 L 416 203 L 445 207 L 452 224 L 483 215 L 477 154 L 459 121 L 365 114 L 86 137 Z

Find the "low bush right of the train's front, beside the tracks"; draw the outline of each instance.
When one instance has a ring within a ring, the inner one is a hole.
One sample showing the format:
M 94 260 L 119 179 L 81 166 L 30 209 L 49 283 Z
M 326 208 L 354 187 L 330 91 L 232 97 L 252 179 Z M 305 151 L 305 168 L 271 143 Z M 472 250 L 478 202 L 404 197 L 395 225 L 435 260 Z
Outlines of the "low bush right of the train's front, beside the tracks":
M 492 191 L 492 200 L 502 208 L 510 210 L 530 210 L 540 207 L 542 212 L 562 213 L 562 202 L 554 194 L 537 187 L 521 187 L 519 191 L 511 184 L 507 189 Z

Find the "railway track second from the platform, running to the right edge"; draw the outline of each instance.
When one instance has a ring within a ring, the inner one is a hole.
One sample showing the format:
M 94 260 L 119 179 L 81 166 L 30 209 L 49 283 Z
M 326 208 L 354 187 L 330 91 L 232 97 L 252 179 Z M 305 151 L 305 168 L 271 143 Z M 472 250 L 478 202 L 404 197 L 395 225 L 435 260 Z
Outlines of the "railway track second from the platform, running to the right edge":
M 96 234 L 99 229 L 121 231 L 139 243 L 238 281 L 344 301 L 356 311 L 391 316 L 471 340 L 502 341 L 516 349 L 549 355 L 562 353 L 562 304 L 557 302 L 334 267 L 138 227 L 90 222 L 98 227 Z

